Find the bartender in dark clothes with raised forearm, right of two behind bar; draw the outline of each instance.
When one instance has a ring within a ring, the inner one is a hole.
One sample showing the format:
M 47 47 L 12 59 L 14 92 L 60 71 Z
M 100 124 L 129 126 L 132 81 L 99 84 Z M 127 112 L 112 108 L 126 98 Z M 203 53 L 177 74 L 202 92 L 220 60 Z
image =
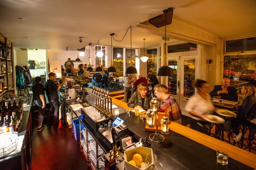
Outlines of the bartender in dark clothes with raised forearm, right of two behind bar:
M 45 92 L 48 97 L 49 103 L 51 105 L 50 112 L 54 111 L 53 116 L 53 126 L 58 125 L 58 118 L 59 118 L 59 110 L 60 110 L 60 102 L 59 102 L 59 94 L 58 90 L 63 86 L 66 80 L 63 81 L 60 85 L 56 85 L 55 78 L 56 74 L 51 72 L 48 74 L 49 80 L 45 83 Z

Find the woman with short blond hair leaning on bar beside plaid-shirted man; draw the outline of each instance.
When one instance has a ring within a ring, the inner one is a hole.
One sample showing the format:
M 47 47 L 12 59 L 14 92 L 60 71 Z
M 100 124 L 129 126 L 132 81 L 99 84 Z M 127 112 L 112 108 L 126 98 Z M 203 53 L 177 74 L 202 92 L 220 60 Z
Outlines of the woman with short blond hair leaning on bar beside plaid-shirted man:
M 128 101 L 128 107 L 135 108 L 138 106 L 140 109 L 148 110 L 150 108 L 150 100 L 152 97 L 148 94 L 148 85 L 140 83 L 137 92 L 132 94 Z

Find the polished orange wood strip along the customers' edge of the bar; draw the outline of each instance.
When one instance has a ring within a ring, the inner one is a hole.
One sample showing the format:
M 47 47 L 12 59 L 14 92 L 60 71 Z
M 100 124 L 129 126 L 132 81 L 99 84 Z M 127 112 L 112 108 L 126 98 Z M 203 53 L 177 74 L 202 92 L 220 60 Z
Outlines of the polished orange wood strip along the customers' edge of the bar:
M 117 100 L 113 97 L 111 98 L 113 104 L 119 105 L 123 108 L 129 108 L 127 103 Z M 233 158 L 239 162 L 244 163 L 247 166 L 256 169 L 256 155 L 249 151 L 245 151 L 239 147 L 233 146 L 232 144 L 223 142 L 219 139 L 215 139 L 211 136 L 205 135 L 175 122 L 171 123 L 170 129 L 215 151 L 219 150 L 221 152 L 224 152 L 228 154 L 230 158 Z

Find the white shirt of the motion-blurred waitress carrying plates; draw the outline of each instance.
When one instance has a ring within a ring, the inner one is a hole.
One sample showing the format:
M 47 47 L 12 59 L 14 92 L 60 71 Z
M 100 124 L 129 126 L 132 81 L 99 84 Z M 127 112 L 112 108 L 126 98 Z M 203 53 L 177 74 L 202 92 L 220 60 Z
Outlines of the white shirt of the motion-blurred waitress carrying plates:
M 210 95 L 208 94 L 207 100 L 204 100 L 200 94 L 195 93 L 189 98 L 188 103 L 185 106 L 186 112 L 194 111 L 200 115 L 210 115 L 215 111 L 215 107 L 212 104 Z M 192 119 L 200 120 L 196 116 L 191 115 Z

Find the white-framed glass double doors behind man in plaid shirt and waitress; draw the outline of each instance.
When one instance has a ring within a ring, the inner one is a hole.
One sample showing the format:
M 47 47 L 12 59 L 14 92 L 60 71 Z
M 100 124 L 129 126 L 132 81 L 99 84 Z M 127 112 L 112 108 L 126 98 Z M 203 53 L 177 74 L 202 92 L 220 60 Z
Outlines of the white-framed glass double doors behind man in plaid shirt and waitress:
M 168 91 L 178 101 L 181 110 L 195 93 L 192 84 L 196 80 L 196 57 L 184 55 L 167 58 L 168 66 L 173 69 L 173 76 L 168 77 Z

